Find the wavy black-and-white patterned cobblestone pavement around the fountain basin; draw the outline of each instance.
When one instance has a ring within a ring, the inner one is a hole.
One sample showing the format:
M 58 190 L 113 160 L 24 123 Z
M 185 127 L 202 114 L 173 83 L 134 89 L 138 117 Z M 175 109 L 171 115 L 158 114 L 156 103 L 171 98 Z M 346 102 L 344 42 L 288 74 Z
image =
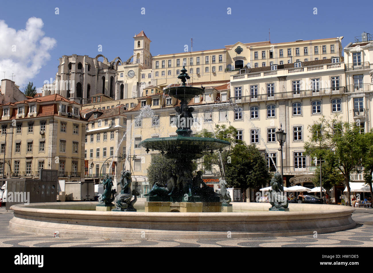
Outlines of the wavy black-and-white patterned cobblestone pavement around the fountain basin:
M 353 229 L 328 234 L 248 239 L 118 240 L 54 238 L 9 229 L 13 212 L 0 208 L 0 247 L 373 247 L 373 209 L 357 209 Z

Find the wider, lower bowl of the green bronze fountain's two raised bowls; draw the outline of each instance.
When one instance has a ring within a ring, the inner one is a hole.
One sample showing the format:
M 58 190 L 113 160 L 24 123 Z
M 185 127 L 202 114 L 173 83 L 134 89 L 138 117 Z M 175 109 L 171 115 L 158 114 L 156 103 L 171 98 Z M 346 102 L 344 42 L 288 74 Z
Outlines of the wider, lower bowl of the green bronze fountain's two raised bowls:
M 200 154 L 203 151 L 218 150 L 229 145 L 231 143 L 225 140 L 181 135 L 145 139 L 140 142 L 141 147 L 149 150 L 164 151 L 169 154 Z

